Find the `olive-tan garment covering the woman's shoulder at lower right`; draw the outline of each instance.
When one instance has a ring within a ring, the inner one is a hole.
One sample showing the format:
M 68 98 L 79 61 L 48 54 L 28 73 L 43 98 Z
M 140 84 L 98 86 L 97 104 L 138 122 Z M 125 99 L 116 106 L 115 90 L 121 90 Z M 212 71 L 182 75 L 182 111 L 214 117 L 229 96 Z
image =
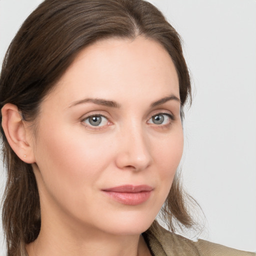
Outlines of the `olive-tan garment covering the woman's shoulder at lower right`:
M 155 256 L 256 256 L 253 252 L 236 250 L 201 239 L 194 242 L 167 231 L 156 221 L 143 236 Z

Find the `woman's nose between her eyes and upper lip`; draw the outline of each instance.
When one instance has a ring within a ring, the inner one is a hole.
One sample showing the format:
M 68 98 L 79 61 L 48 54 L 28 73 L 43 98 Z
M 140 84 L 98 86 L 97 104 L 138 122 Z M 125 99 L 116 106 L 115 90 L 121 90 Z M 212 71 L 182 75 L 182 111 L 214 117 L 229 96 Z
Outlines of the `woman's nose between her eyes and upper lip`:
M 116 165 L 120 169 L 140 171 L 152 163 L 149 139 L 141 128 L 133 127 L 120 134 Z

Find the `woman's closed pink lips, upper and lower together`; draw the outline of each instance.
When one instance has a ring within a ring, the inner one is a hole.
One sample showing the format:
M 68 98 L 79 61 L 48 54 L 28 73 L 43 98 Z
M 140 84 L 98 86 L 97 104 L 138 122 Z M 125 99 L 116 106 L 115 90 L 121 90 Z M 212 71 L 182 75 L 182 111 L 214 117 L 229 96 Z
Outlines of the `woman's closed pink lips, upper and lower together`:
M 138 205 L 147 201 L 152 190 L 148 185 L 121 185 L 102 189 L 113 200 L 127 205 Z

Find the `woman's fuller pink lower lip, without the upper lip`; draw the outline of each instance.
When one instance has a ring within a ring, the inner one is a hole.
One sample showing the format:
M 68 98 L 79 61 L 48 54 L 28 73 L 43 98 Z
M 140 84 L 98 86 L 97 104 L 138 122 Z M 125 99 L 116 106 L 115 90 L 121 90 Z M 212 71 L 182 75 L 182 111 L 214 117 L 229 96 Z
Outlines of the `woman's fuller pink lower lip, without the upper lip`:
M 127 205 L 138 205 L 145 202 L 151 194 L 151 191 L 140 191 L 137 193 L 130 192 L 114 192 L 114 191 L 103 191 L 105 194 L 110 196 L 112 199 Z

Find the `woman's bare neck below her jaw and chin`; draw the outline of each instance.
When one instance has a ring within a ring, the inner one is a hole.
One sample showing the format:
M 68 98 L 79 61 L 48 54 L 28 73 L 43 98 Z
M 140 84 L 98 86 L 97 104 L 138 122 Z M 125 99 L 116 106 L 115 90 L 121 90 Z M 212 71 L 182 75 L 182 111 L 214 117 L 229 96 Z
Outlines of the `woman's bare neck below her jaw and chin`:
M 46 218 L 49 219 L 49 218 Z M 109 234 L 90 226 L 78 226 L 58 218 L 44 221 L 34 242 L 27 244 L 29 256 L 145 256 L 150 255 L 140 234 Z

